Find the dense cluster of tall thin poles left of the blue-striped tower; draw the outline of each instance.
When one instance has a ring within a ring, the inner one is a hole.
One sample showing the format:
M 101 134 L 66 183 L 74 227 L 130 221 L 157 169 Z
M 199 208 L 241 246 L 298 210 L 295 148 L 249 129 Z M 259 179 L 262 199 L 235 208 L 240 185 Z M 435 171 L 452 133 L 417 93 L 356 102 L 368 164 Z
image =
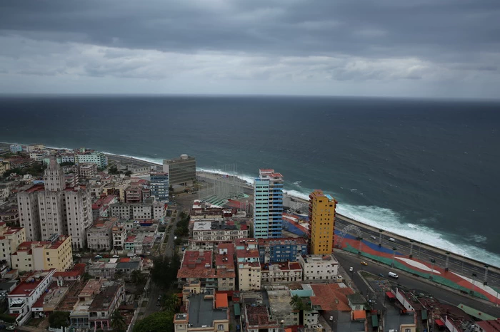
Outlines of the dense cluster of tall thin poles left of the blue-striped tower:
M 229 199 L 244 199 L 246 182 L 236 176 L 236 164 L 223 165 L 216 172 L 198 175 L 198 199 L 210 204 L 223 206 Z

